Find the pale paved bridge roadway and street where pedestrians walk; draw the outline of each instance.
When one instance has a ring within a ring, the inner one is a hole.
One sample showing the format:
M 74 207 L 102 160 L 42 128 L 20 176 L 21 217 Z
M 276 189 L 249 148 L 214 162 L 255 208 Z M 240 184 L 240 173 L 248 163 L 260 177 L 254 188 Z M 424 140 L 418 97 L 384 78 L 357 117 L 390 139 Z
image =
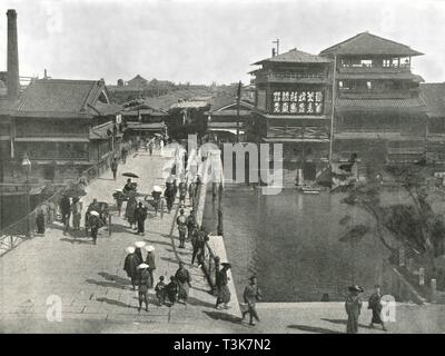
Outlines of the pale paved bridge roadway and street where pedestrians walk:
M 164 158 L 139 152 L 120 166 L 142 177 L 139 191 L 149 192 L 152 185 L 162 185 Z M 87 188 L 85 206 L 93 199 L 111 200 L 116 188 L 126 178 L 115 181 L 107 172 Z M 146 224 L 145 237 L 137 236 L 127 222 L 113 216 L 112 234 L 101 229 L 98 244 L 83 234 L 63 236 L 60 225 L 52 226 L 44 237 L 26 241 L 0 258 L 0 332 L 3 333 L 344 333 L 345 313 L 337 303 L 263 304 L 255 328 L 214 308 L 215 298 L 201 270 L 188 266 L 194 283 L 186 307 L 158 307 L 151 291 L 149 312 L 138 312 L 137 293 L 132 291 L 122 270 L 125 247 L 146 240 L 156 247 L 156 275 L 170 276 L 178 258 L 190 261 L 190 247 L 176 250 L 178 234 L 175 212 L 154 217 Z M 229 256 L 230 257 L 230 256 Z M 236 271 L 235 271 L 236 273 Z M 62 301 L 62 322 L 48 322 L 48 297 Z M 445 332 L 443 306 L 399 306 L 397 323 L 389 333 Z M 364 308 L 362 333 L 383 333 L 366 327 L 369 310 Z

